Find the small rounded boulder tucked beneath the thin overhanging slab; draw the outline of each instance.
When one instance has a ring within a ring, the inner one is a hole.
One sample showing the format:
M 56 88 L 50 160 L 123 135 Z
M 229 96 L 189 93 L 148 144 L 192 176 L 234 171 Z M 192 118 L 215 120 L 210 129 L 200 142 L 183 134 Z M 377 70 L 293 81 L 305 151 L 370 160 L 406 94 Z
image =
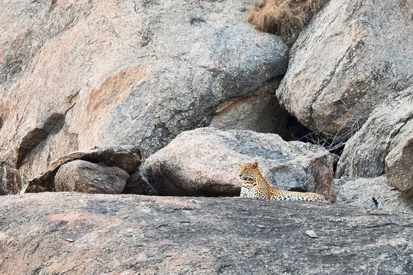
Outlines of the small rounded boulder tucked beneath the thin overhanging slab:
M 74 160 L 63 164 L 54 177 L 56 191 L 120 194 L 129 174 L 118 167 Z

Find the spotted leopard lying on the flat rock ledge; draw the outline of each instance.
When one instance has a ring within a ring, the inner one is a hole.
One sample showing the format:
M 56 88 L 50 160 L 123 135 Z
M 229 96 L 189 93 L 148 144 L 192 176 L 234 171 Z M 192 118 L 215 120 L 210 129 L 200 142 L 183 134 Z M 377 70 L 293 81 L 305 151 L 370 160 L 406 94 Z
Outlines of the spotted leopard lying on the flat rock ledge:
M 242 198 L 269 199 L 276 201 L 321 201 L 328 202 L 323 196 L 315 192 L 296 192 L 280 190 L 270 184 L 262 177 L 258 169 L 258 162 L 240 164 L 238 175 L 242 181 Z

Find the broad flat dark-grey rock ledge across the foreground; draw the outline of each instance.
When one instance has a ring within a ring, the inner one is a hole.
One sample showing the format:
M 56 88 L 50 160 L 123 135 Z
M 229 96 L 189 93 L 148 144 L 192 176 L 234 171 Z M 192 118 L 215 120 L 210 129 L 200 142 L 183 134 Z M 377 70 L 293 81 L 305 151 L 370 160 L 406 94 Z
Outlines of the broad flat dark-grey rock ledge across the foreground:
M 412 236 L 409 214 L 337 203 L 10 195 L 0 274 L 413 274 Z

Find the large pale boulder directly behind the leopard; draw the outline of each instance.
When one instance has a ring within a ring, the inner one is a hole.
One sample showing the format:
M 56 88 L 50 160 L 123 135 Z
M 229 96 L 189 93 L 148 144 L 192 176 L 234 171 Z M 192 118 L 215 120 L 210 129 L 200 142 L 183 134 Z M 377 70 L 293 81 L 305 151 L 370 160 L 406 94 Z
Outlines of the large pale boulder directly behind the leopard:
M 324 148 L 279 135 L 201 128 L 185 131 L 142 165 L 160 195 L 239 196 L 244 162 L 259 162 L 270 184 L 319 192 L 334 200 L 332 157 Z

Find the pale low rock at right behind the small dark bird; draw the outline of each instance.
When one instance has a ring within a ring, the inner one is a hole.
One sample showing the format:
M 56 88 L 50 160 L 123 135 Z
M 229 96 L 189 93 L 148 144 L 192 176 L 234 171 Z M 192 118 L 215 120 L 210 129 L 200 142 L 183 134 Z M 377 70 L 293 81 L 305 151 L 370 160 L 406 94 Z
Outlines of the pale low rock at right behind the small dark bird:
M 373 210 L 376 206 L 372 197 L 375 197 L 380 202 L 381 210 L 413 214 L 413 199 L 392 188 L 385 175 L 360 179 L 335 179 L 335 183 L 339 188 L 338 204 L 357 207 L 359 210 Z

